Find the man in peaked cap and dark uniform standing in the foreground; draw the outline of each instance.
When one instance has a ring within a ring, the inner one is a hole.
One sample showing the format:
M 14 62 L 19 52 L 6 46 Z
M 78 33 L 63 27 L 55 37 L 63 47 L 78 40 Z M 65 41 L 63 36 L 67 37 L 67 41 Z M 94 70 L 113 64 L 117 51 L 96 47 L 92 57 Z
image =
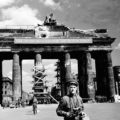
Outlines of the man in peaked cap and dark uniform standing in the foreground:
M 64 117 L 64 120 L 89 120 L 83 113 L 82 98 L 77 93 L 77 80 L 72 79 L 68 81 L 67 86 L 69 93 L 61 99 L 56 109 L 57 115 Z

